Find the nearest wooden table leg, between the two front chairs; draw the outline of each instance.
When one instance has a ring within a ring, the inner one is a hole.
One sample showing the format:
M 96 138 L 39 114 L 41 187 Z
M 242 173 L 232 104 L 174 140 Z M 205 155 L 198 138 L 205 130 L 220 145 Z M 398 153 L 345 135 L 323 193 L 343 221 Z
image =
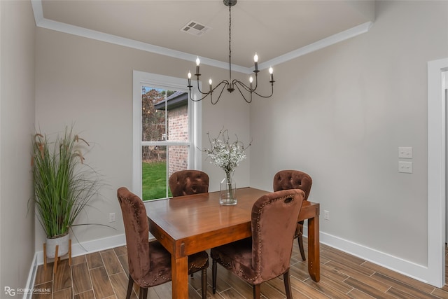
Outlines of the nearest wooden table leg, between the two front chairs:
M 171 258 L 173 299 L 188 298 L 188 256 Z

